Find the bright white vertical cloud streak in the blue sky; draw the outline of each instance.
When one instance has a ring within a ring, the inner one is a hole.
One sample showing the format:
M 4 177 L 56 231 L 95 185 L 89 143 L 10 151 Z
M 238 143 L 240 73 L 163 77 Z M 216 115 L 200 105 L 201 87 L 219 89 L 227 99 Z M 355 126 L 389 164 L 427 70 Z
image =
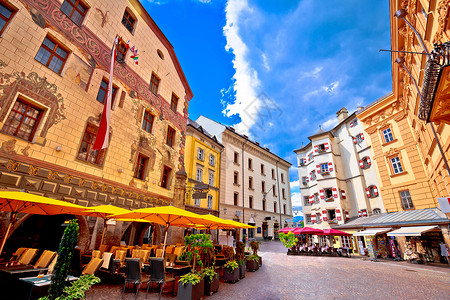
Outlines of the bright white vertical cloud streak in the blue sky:
M 229 0 L 225 8 L 226 24 L 223 34 L 227 40 L 225 50 L 234 54 L 233 91 L 234 102 L 228 103 L 223 110 L 227 117 L 238 115 L 240 123 L 233 127 L 236 131 L 249 135 L 249 130 L 256 123 L 261 100 L 258 98 L 260 81 L 258 73 L 248 60 L 248 48 L 239 33 L 239 24 L 245 22 L 248 14 L 253 10 L 248 6 L 247 0 Z

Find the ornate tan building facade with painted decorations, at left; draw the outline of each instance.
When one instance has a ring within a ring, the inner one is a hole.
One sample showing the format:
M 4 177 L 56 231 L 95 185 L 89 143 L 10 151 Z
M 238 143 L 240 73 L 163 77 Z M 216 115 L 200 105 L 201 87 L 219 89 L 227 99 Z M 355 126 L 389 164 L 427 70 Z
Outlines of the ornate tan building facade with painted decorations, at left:
M 140 2 L 0 5 L 0 186 L 84 206 L 184 207 L 193 95 L 173 47 Z M 110 144 L 94 151 L 117 36 Z M 131 57 L 136 49 L 139 64 Z M 96 247 L 103 225 L 79 222 L 82 248 L 91 236 Z M 106 241 L 118 243 L 127 226 L 108 227 Z M 142 234 L 133 229 L 127 242 Z

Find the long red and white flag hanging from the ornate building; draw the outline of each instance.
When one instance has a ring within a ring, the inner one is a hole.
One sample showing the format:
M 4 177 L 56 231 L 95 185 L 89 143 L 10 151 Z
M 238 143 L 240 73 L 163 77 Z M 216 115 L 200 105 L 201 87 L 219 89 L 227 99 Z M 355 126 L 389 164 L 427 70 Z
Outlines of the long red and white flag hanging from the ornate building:
M 109 70 L 109 83 L 108 83 L 108 95 L 106 97 L 106 103 L 103 106 L 102 119 L 100 121 L 100 127 L 98 128 L 97 137 L 95 138 L 93 150 L 100 150 L 108 148 L 109 145 L 109 118 L 111 116 L 111 104 L 112 104 L 112 90 L 114 80 L 114 63 L 116 60 L 116 45 L 118 38 L 114 40 L 112 49 L 111 66 Z

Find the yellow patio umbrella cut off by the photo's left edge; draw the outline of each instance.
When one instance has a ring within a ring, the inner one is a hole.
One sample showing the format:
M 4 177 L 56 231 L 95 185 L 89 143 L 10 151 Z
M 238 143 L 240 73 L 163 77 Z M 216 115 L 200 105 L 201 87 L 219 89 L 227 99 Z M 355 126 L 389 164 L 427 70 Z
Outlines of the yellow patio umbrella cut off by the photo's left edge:
M 79 214 L 86 211 L 86 207 L 26 192 L 0 191 L 0 211 L 11 212 L 8 229 L 0 247 L 1 254 L 18 213 L 38 215 Z

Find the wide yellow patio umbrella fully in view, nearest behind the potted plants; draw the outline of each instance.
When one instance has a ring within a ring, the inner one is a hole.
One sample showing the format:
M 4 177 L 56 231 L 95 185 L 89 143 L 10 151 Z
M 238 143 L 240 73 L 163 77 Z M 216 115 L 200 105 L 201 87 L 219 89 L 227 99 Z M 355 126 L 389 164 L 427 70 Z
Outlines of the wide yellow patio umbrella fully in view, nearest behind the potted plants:
M 201 215 L 172 205 L 136 209 L 128 213 L 114 215 L 113 217 L 116 219 L 143 219 L 166 226 L 162 253 L 163 257 L 166 250 L 167 231 L 170 226 L 194 227 L 194 224 L 207 225 L 212 223 L 211 220 L 203 219 Z

